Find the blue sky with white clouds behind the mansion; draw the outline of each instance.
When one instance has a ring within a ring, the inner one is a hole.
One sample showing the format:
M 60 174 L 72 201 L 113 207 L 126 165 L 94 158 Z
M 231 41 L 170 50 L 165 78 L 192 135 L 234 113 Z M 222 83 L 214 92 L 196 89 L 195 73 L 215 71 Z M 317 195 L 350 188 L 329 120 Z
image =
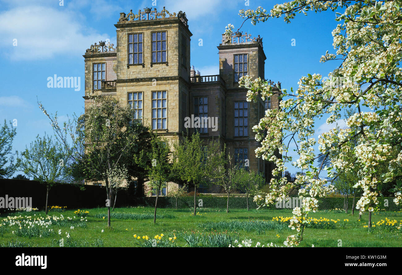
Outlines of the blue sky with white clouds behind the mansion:
M 110 39 L 116 45 L 114 24 L 119 13 L 132 9 L 137 12 L 146 6 L 158 11 L 166 6 L 170 13 L 182 10 L 189 20 L 193 33 L 191 40 L 191 65 L 202 75 L 219 73 L 217 46 L 221 43 L 225 26 L 231 23 L 235 30 L 243 19 L 240 9 L 255 9 L 263 6 L 267 10 L 276 0 L 0 0 L 0 120 L 17 120 L 17 136 L 14 150 L 21 151 L 37 134 L 46 131 L 52 134 L 45 115 L 37 107 L 37 98 L 48 112 L 57 111 L 61 118 L 67 114 L 83 112 L 84 58 L 85 50 L 93 43 Z M 328 50 L 334 53 L 331 31 L 338 23 L 331 11 L 308 16 L 298 14 L 291 24 L 283 18 L 270 19 L 253 26 L 244 23 L 241 31 L 252 37 L 263 37 L 267 56 L 265 77 L 280 81 L 282 88 L 297 88 L 297 81 L 308 73 L 327 75 L 337 61 L 322 64 L 321 55 Z M 15 40 L 16 39 L 16 46 Z M 203 39 L 203 46 L 198 44 Z M 291 46 L 295 39 L 295 46 Z M 14 44 L 14 45 L 13 45 Z M 47 88 L 47 77 L 80 77 L 81 90 L 74 88 Z M 325 120 L 316 121 L 316 136 L 333 126 Z M 296 169 L 289 169 L 294 173 Z

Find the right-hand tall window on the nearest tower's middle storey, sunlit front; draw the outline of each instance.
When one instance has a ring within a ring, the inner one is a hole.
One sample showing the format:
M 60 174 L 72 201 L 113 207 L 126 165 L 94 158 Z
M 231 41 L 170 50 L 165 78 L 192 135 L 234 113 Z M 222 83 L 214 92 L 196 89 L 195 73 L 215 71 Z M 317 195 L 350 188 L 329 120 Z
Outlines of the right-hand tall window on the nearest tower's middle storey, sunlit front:
M 167 129 L 167 92 L 152 92 L 152 129 Z

